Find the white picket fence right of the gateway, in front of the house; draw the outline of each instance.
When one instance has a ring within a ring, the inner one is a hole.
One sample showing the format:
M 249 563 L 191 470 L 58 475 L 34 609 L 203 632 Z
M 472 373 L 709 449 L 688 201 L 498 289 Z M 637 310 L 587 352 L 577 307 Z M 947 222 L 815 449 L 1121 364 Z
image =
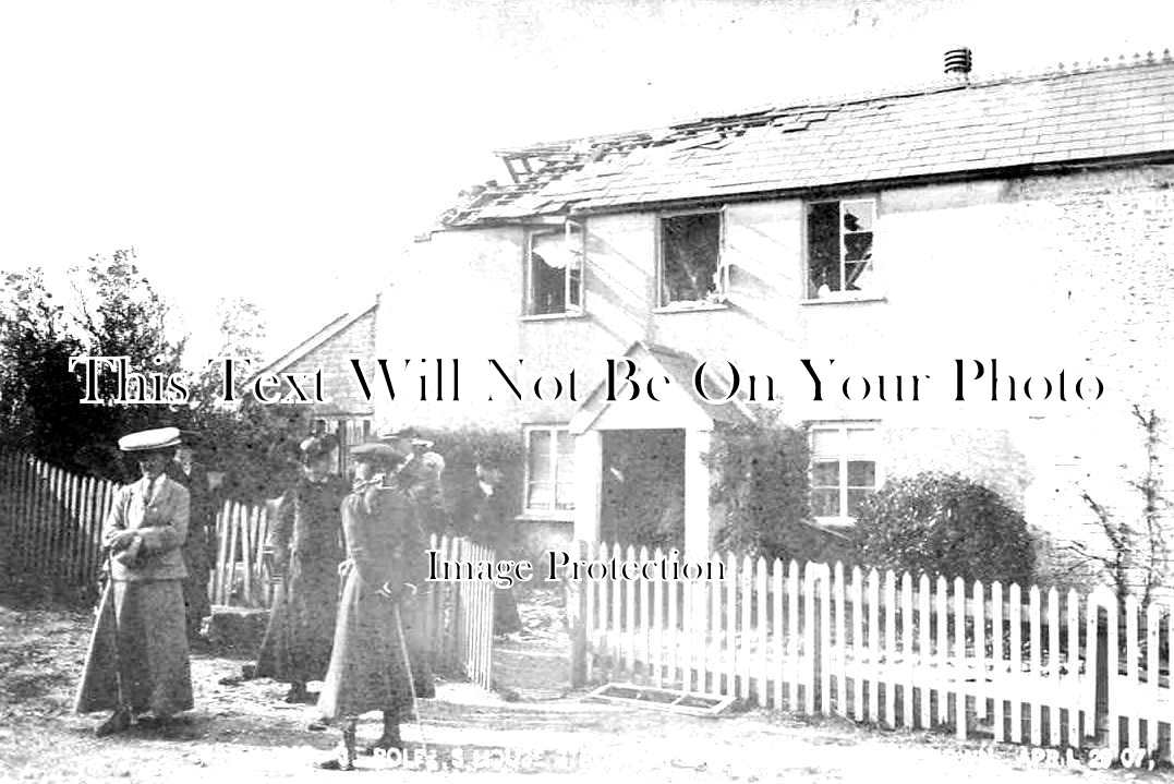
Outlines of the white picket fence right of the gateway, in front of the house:
M 659 561 L 585 545 L 587 561 Z M 1169 609 L 1107 588 L 965 583 L 714 555 L 724 579 L 585 581 L 587 677 L 959 738 L 1169 758 Z

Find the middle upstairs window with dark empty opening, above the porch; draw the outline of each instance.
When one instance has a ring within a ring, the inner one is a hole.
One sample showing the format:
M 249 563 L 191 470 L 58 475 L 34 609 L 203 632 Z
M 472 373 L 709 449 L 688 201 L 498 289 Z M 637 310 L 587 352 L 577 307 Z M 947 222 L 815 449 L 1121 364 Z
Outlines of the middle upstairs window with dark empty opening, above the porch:
M 721 212 L 661 217 L 661 306 L 723 300 L 727 282 L 721 263 Z

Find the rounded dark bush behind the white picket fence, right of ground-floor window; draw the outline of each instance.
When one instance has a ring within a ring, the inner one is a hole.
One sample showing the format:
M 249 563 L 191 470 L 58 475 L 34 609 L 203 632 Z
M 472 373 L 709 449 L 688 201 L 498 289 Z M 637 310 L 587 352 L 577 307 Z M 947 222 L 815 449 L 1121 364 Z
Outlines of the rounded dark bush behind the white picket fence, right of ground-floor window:
M 882 569 L 965 580 L 1031 582 L 1032 539 L 1023 515 L 957 474 L 889 481 L 853 530 L 857 559 Z

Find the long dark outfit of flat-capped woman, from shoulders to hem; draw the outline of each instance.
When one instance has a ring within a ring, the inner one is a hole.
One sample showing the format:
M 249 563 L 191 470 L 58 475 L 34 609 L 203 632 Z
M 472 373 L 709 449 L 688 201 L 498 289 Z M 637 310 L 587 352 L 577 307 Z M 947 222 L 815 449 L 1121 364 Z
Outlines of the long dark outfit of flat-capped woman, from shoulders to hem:
M 318 709 L 325 718 L 371 710 L 406 716 L 412 682 L 399 595 L 412 560 L 423 557 L 416 505 L 398 487 L 367 484 L 346 496 L 342 513 L 355 568 L 343 583 Z M 380 592 L 385 586 L 391 597 Z

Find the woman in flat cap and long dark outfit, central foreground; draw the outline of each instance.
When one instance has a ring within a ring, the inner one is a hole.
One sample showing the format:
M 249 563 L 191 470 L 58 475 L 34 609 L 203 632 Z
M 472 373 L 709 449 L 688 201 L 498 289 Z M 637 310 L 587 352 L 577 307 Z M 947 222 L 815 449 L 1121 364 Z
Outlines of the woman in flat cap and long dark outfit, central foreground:
M 319 763 L 328 770 L 351 770 L 358 716 L 383 711 L 383 735 L 372 746 L 400 744 L 399 724 L 414 707 L 411 664 L 400 608 L 416 586 L 409 579 L 423 557 L 416 506 L 391 471 L 400 455 L 385 444 L 351 450 L 355 489 L 343 501 L 346 560 L 339 566 L 343 595 L 338 604 L 330 669 L 318 697 L 323 718 L 340 724 L 342 752 Z

